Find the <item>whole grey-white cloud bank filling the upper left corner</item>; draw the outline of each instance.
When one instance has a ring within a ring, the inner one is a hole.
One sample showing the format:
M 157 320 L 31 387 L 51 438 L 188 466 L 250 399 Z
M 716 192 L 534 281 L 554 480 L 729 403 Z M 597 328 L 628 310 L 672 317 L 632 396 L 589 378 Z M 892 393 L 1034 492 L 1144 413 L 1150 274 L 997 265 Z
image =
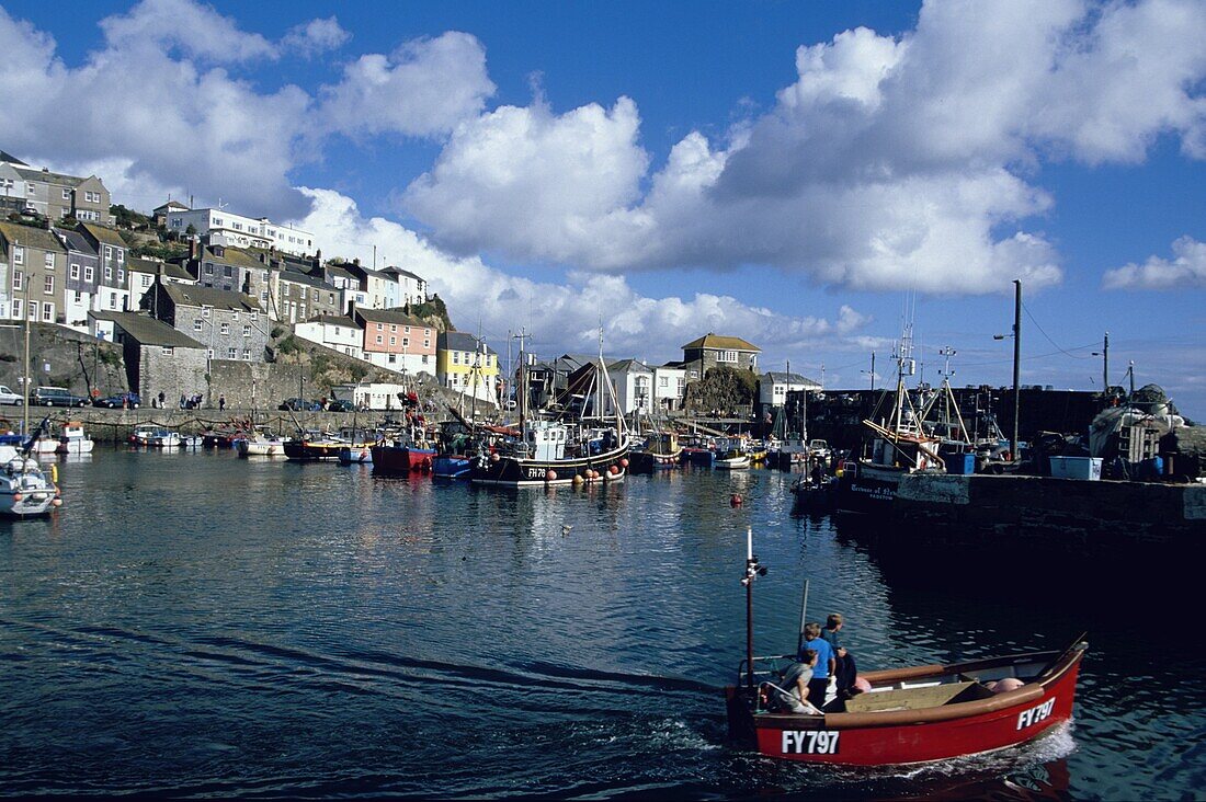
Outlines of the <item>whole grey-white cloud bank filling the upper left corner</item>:
M 365 55 L 356 64 L 388 66 L 350 66 L 320 101 L 292 84 L 265 92 L 241 71 L 253 75 L 251 63 L 279 58 L 283 43 L 315 52 L 346 41 L 334 18 L 274 45 L 207 5 L 142 0 L 100 27 L 103 45 L 69 66 L 48 34 L 0 7 L 0 141 L 53 168 L 118 165 L 115 186 L 142 187 L 134 203 L 144 207 L 164 200 L 146 199 L 150 188 L 171 187 L 177 198 L 221 198 L 252 216 L 304 213 L 308 200 L 289 175 L 321 156 L 324 137 L 445 131 L 493 90 L 481 46 L 463 34 L 404 45 L 390 59 Z

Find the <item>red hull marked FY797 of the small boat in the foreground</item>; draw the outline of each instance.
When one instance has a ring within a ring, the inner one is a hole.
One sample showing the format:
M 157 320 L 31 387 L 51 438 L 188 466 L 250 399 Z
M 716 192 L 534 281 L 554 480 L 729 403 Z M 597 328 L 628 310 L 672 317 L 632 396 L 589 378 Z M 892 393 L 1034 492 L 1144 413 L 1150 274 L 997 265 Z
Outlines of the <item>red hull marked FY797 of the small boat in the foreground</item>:
M 753 733 L 762 755 L 809 763 L 895 766 L 996 751 L 1034 740 L 1072 718 L 1082 656 L 1077 650 L 1049 680 L 988 699 L 917 710 L 751 715 L 744 701 L 748 691 L 728 687 L 730 727 Z

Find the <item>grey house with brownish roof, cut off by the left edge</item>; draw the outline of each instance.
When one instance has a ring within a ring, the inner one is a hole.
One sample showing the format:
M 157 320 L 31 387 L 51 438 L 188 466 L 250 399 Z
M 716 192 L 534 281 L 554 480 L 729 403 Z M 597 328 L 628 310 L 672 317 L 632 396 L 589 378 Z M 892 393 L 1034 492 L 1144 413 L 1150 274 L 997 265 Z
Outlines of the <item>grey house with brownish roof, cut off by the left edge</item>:
M 68 250 L 45 228 L 0 223 L 0 304 L 10 320 L 62 323 Z

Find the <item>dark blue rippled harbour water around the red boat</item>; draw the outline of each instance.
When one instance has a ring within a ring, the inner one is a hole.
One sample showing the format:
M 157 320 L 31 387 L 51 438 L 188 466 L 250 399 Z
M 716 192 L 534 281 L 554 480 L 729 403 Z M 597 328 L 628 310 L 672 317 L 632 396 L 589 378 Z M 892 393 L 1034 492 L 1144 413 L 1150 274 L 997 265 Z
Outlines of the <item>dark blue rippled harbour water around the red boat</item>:
M 1195 610 L 1153 603 L 1159 578 L 1120 560 L 1070 584 L 1042 555 L 991 583 L 991 554 L 930 572 L 794 515 L 791 479 L 515 492 L 229 451 L 64 462 L 57 517 L 0 522 L 0 794 L 1200 794 Z M 844 613 L 865 669 L 1088 630 L 1075 724 L 895 772 L 727 748 L 747 527 L 769 567 L 759 654 L 795 649 L 806 576 L 809 617 Z

